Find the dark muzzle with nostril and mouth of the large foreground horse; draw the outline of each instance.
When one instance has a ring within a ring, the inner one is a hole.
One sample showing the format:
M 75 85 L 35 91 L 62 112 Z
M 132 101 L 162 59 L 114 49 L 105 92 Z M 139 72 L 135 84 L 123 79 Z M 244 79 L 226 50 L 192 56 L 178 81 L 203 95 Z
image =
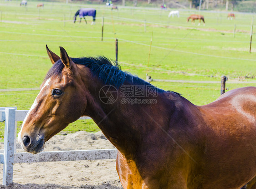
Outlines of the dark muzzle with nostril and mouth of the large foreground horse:
M 45 146 L 45 138 L 42 135 L 38 135 L 36 138 L 31 138 L 25 135 L 20 141 L 21 147 L 29 153 L 40 153 Z

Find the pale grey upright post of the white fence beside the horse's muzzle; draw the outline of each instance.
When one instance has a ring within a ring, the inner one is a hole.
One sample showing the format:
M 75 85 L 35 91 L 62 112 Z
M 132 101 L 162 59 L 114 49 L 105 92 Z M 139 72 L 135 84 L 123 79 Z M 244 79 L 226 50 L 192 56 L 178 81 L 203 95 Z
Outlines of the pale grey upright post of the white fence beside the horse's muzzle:
M 12 184 L 13 178 L 15 111 L 15 108 L 5 109 L 3 185 Z

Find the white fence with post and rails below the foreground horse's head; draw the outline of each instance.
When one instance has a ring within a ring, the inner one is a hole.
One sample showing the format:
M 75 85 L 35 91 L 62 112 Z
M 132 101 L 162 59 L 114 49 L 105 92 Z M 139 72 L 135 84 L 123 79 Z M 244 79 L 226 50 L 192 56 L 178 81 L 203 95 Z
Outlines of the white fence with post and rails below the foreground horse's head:
M 31 153 L 16 153 L 16 121 L 23 121 L 28 110 L 17 110 L 17 107 L 0 107 L 0 122 L 5 122 L 4 150 L 0 150 L 0 163 L 3 163 L 3 185 L 12 184 L 13 163 L 53 162 L 114 159 L 117 149 L 73 150 Z M 79 119 L 91 119 L 80 117 Z

